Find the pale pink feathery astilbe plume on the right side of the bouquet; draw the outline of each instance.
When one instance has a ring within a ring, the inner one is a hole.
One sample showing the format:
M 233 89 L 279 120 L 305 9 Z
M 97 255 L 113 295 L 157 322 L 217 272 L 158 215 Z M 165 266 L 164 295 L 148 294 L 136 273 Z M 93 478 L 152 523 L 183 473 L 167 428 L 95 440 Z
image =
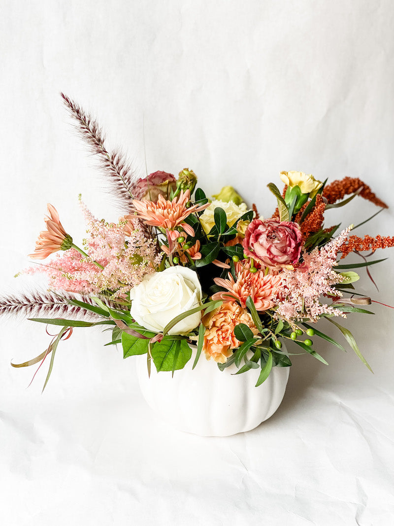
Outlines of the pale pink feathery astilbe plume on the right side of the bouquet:
M 284 269 L 281 272 L 281 288 L 277 300 L 276 317 L 287 321 L 300 321 L 308 318 L 316 322 L 323 314 L 346 315 L 340 310 L 322 304 L 320 296 L 342 296 L 334 285 L 343 278 L 335 272 L 337 254 L 351 227 L 343 230 L 338 237 L 323 248 L 314 248 L 310 254 L 304 252 L 304 263 L 295 270 Z

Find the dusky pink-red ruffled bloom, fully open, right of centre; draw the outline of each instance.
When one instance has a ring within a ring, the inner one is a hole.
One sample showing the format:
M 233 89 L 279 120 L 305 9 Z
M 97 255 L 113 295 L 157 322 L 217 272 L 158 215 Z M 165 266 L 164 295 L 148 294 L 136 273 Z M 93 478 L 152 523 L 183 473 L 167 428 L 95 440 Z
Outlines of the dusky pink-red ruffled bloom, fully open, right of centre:
M 246 229 L 242 245 L 248 256 L 267 267 L 288 268 L 299 260 L 303 238 L 297 223 L 254 219 Z

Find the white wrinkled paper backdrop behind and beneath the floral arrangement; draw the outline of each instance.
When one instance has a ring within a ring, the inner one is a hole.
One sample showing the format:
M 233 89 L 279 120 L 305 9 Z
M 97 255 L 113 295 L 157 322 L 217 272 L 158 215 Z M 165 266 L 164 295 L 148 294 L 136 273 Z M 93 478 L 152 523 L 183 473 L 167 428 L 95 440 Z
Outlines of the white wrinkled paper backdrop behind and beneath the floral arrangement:
M 97 116 L 144 176 L 192 168 L 216 193 L 240 191 L 272 214 L 281 170 L 360 177 L 384 199 L 359 235 L 394 235 L 394 5 L 390 0 L 3 0 L 0 6 L 1 290 L 29 266 L 46 203 L 81 240 L 77 197 L 121 210 L 72 129 L 60 90 Z M 330 211 L 344 228 L 376 208 Z M 328 214 L 327 214 L 328 216 Z M 363 232 L 364 229 L 364 232 Z M 360 289 L 394 304 L 394 250 Z M 361 260 L 360 260 L 361 261 Z M 289 524 L 394 522 L 394 311 L 349 319 L 372 375 L 349 349 L 294 357 L 282 406 L 260 427 L 200 438 L 157 420 L 132 359 L 76 329 L 52 376 L 9 363 L 48 345 L 45 326 L 1 320 L 0 523 Z M 324 328 L 341 338 L 322 321 Z M 335 328 L 334 328 L 335 329 Z

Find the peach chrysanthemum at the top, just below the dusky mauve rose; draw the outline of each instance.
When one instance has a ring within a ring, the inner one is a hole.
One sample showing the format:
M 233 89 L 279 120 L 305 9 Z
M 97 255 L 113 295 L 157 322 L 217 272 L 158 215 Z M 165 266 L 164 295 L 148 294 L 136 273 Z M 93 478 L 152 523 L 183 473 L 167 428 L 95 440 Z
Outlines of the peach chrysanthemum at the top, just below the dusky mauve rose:
M 193 212 L 204 210 L 209 203 L 205 205 L 193 205 L 186 208 L 186 203 L 190 199 L 190 190 L 186 190 L 179 196 L 174 197 L 172 201 L 167 201 L 162 195 L 159 195 L 157 203 L 153 201 L 139 201 L 133 199 L 133 205 L 137 210 L 138 217 L 143 219 L 147 225 L 160 227 L 165 230 L 173 230 L 176 227 L 182 227 L 190 236 L 194 236 L 193 228 L 183 222 Z

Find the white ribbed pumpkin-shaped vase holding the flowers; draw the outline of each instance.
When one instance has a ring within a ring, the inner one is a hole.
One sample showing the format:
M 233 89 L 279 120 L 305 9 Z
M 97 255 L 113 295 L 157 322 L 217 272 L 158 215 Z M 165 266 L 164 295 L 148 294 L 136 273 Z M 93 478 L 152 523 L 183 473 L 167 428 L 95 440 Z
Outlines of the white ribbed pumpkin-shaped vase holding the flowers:
M 137 376 L 149 406 L 180 431 L 204 437 L 227 437 L 250 431 L 277 410 L 285 394 L 289 367 L 273 367 L 261 386 L 255 387 L 260 369 L 235 375 L 234 364 L 220 371 L 202 353 L 192 370 L 196 348 L 184 369 L 157 372 L 150 377 L 147 355 L 137 356 Z

